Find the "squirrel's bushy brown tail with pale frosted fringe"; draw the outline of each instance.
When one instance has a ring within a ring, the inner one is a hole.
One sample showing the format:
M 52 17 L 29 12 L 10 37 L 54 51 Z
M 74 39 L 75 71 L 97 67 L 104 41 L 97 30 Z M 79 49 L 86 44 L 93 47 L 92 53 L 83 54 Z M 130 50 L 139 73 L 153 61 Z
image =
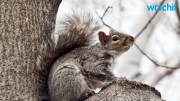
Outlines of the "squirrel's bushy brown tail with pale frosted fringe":
M 65 16 L 56 26 L 58 31 L 52 33 L 40 46 L 36 62 L 39 94 L 44 101 L 49 99 L 47 79 L 56 59 L 68 50 L 90 45 L 94 33 L 101 27 L 98 21 L 87 13 Z

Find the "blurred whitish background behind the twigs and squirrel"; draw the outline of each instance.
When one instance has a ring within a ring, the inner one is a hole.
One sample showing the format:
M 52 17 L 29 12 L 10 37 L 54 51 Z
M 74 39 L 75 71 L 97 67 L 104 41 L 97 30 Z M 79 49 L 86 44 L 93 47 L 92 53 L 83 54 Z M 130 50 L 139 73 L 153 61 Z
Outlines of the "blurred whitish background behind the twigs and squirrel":
M 162 0 L 63 0 L 57 14 L 57 21 L 65 13 L 91 11 L 98 19 L 108 6 L 104 22 L 119 32 L 136 36 L 155 11 L 148 11 L 147 5 L 159 5 Z M 180 2 L 180 1 L 179 1 Z M 176 3 L 166 0 L 165 5 Z M 179 15 L 180 16 L 180 15 Z M 101 20 L 99 20 L 101 21 Z M 101 30 L 106 33 L 109 28 Z M 146 30 L 135 41 L 156 63 L 167 67 L 180 67 L 180 19 L 176 11 L 159 11 Z M 133 46 L 116 61 L 114 73 L 154 86 L 166 101 L 180 101 L 180 69 L 156 66 Z

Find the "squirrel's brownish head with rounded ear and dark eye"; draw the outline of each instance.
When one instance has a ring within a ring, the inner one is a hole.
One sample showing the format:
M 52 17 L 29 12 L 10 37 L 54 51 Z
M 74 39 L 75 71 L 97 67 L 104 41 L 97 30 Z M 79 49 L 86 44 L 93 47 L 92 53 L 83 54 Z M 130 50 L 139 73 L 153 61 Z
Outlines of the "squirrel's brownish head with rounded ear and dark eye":
M 134 43 L 134 38 L 127 34 L 122 34 L 113 30 L 109 31 L 109 35 L 100 31 L 98 33 L 101 46 L 110 50 L 115 50 L 122 54 L 130 49 Z

